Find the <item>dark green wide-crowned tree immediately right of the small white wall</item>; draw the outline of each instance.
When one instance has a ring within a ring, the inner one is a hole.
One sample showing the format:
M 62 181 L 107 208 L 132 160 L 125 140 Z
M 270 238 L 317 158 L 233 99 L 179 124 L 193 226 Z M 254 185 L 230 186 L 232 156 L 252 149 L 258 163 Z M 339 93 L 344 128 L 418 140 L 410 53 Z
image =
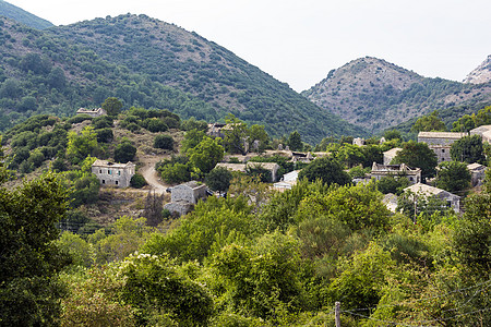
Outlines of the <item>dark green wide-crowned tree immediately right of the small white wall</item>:
M 298 178 L 307 178 L 310 182 L 321 180 L 325 184 L 346 185 L 351 182 L 349 174 L 343 170 L 343 166 L 333 158 L 315 159 L 303 168 Z

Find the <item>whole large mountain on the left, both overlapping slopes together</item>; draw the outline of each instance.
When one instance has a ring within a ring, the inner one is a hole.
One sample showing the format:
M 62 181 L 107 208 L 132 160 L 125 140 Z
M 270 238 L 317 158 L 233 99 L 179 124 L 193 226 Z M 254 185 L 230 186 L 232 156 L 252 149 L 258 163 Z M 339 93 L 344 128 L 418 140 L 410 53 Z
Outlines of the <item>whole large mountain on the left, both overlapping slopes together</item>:
M 145 15 L 43 32 L 3 22 L 0 128 L 15 114 L 73 114 L 116 96 L 124 108 L 169 109 L 183 119 L 212 122 L 231 112 L 272 136 L 298 130 L 309 143 L 366 135 L 227 49 Z M 51 77 L 60 78 L 59 88 Z

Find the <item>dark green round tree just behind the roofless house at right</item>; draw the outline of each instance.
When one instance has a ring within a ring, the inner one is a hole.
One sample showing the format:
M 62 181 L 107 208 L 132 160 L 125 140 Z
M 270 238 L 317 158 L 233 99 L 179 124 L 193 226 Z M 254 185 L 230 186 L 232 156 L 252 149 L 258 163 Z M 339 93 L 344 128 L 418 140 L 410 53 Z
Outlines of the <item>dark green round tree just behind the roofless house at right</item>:
M 470 172 L 467 165 L 458 161 L 444 161 L 440 164 L 436 172 L 436 187 L 451 193 L 458 193 L 470 187 Z

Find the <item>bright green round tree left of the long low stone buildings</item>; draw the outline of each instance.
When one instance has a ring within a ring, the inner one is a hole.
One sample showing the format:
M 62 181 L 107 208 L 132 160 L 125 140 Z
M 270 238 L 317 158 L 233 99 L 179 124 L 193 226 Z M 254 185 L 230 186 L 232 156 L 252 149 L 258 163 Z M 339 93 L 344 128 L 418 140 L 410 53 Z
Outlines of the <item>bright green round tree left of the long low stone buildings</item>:
M 204 137 L 200 144 L 188 152 L 189 162 L 203 174 L 208 173 L 224 157 L 220 138 Z

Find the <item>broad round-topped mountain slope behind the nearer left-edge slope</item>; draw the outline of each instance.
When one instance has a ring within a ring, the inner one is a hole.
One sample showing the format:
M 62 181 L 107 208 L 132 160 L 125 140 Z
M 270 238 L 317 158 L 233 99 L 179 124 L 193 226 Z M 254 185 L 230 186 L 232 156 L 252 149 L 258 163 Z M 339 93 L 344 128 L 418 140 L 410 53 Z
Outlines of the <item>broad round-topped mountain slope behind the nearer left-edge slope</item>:
M 48 33 L 88 47 L 132 73 L 190 93 L 217 110 L 265 124 L 275 136 L 298 130 L 315 143 L 326 135 L 364 134 L 227 49 L 145 15 L 97 19 Z M 118 96 L 128 101 L 130 95 Z

